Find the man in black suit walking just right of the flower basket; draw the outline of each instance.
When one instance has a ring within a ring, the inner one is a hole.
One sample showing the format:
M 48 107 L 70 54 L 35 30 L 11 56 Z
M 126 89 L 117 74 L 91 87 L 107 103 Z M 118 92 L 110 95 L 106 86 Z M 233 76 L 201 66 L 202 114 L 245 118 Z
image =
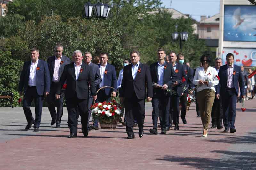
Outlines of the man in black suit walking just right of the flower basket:
M 141 138 L 144 134 L 145 99 L 147 97 L 148 102 L 152 100 L 153 88 L 149 66 L 140 63 L 140 53 L 132 51 L 130 59 L 132 64 L 124 67 L 120 101 L 125 105 L 127 139 L 134 139 L 134 117 L 137 119 Z

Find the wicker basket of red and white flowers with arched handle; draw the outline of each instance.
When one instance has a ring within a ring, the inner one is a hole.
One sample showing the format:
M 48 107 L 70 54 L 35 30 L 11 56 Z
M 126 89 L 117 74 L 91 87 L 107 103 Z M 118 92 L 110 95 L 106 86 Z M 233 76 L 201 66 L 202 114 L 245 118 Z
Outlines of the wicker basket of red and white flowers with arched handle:
M 112 88 L 109 86 L 101 87 L 103 88 Z M 99 90 L 100 90 L 99 89 Z M 97 91 L 97 93 L 99 92 Z M 116 89 L 114 89 L 116 90 Z M 116 124 L 118 119 L 122 117 L 122 107 L 119 103 L 117 103 L 114 99 L 111 101 L 104 101 L 100 103 L 95 103 L 91 106 L 92 116 L 94 118 L 98 118 L 100 122 L 100 127 L 102 129 L 116 129 Z

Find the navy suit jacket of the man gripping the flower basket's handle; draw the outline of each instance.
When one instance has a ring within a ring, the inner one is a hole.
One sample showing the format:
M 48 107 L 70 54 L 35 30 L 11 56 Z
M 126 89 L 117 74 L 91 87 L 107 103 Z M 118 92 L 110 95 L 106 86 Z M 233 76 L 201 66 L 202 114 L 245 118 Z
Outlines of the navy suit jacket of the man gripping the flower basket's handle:
M 98 69 L 100 67 L 100 64 L 98 65 Z M 104 75 L 104 84 L 103 86 L 110 86 L 115 89 L 117 89 L 117 78 L 116 78 L 116 69 L 113 65 L 108 64 L 106 66 L 105 71 L 107 70 L 107 74 Z M 111 88 L 105 88 L 105 94 L 106 96 L 110 96 L 112 91 L 114 91 Z

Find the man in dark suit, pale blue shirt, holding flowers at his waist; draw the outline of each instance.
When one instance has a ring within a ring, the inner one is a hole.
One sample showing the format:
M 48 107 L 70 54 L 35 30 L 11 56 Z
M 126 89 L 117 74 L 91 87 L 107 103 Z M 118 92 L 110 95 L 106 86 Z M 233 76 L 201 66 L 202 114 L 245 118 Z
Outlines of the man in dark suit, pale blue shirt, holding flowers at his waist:
M 158 62 L 150 65 L 150 73 L 152 83 L 156 83 L 162 86 L 161 89 L 153 87 L 153 99 L 152 99 L 152 120 L 153 129 L 150 129 L 151 134 L 157 134 L 157 120 L 159 116 L 159 106 L 161 106 L 161 133 L 166 134 L 166 129 L 169 127 L 169 112 L 170 112 L 170 96 L 166 93 L 167 88 L 171 88 L 172 83 L 175 82 L 175 72 L 171 64 L 164 61 L 165 51 L 159 49 Z

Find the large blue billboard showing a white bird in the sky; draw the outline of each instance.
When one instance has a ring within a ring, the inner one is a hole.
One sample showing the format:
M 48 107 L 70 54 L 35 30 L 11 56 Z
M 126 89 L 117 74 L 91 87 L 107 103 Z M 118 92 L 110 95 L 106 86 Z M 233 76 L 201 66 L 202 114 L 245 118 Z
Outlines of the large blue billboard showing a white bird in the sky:
M 256 42 L 256 6 L 224 5 L 224 41 Z

